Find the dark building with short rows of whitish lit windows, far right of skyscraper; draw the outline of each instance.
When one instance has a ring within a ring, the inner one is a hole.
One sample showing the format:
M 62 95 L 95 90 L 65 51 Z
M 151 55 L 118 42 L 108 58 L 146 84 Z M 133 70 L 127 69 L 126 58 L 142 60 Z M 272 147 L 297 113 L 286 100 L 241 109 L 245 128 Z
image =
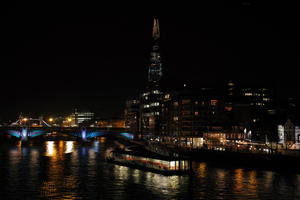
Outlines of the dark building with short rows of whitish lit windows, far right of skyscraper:
M 269 87 L 227 83 L 226 110 L 235 125 L 252 131 L 256 139 L 264 139 L 270 119 L 276 114 L 274 90 Z

